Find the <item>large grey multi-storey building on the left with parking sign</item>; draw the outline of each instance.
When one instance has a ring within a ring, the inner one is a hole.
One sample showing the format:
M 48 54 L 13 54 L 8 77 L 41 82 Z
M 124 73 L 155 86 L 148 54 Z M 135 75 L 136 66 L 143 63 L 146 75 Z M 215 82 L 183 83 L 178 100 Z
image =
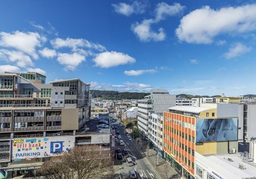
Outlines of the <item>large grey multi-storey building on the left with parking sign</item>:
M 20 166 L 38 167 L 54 153 L 52 144 L 57 141 L 61 148 L 57 152 L 74 145 L 109 143 L 109 134 L 77 133 L 89 118 L 89 84 L 79 78 L 45 84 L 38 73 L 0 74 L 1 167 L 9 172 Z

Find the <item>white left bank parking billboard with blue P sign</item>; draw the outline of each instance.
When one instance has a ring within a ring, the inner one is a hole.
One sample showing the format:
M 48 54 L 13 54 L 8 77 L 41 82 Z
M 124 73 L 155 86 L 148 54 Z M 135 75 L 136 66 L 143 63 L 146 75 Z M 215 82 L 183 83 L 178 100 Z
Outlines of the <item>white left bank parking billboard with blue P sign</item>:
M 12 159 L 31 159 L 49 157 L 68 152 L 75 146 L 75 136 L 13 139 Z

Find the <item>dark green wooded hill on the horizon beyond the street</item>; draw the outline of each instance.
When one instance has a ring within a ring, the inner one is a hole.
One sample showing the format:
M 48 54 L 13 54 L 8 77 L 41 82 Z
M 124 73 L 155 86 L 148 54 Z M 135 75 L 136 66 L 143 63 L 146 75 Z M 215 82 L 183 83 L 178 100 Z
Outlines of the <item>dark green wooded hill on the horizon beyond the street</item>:
M 146 95 L 149 95 L 150 93 L 90 90 L 90 94 L 92 94 L 92 98 L 120 100 L 120 99 L 143 99 Z

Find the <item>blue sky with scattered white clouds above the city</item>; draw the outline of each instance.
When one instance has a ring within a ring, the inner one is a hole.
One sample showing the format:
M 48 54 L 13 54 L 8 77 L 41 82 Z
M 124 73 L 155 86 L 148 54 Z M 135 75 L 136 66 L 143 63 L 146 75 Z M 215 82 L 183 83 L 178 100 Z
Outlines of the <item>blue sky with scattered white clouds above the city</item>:
M 1 1 L 0 72 L 92 89 L 255 94 L 256 1 Z

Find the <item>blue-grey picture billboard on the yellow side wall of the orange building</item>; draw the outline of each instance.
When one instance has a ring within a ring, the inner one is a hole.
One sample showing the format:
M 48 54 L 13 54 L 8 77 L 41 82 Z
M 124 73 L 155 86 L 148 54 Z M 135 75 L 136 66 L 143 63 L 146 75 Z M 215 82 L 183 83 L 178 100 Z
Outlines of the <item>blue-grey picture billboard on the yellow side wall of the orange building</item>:
M 197 119 L 196 143 L 237 140 L 237 118 Z

